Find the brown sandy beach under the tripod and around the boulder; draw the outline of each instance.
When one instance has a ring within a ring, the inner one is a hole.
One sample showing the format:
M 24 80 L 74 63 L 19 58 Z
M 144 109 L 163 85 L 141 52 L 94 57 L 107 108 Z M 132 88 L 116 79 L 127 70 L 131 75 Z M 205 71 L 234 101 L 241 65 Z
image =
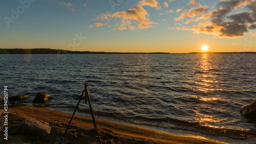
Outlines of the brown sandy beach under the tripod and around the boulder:
M 9 105 L 8 111 L 10 112 L 9 132 L 13 131 L 23 119 L 34 118 L 49 123 L 52 127 L 51 133 L 38 140 L 30 139 L 29 136 L 9 135 L 8 141 L 1 138 L 0 143 L 59 143 L 58 140 L 63 136 L 72 116 L 68 113 L 26 105 Z M 96 122 L 102 143 L 220 143 L 207 139 L 175 136 L 97 118 Z M 92 117 L 75 115 L 63 143 L 99 143 Z

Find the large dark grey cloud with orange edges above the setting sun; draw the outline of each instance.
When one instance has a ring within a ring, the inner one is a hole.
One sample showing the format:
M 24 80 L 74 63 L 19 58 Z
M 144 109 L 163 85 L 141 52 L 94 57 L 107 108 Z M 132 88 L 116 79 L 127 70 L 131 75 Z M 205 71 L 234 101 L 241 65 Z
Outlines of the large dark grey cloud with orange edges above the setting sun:
M 232 38 L 243 37 L 248 33 L 248 30 L 256 29 L 255 0 L 222 0 L 214 8 L 215 10 L 208 13 L 209 18 L 207 21 L 201 22 L 203 25 L 195 26 L 190 30 L 197 33 L 213 34 L 222 38 Z M 243 9 L 244 11 L 230 14 L 238 9 Z M 178 18 L 183 17 L 181 15 Z M 191 21 L 198 22 L 199 20 L 202 19 L 197 18 Z

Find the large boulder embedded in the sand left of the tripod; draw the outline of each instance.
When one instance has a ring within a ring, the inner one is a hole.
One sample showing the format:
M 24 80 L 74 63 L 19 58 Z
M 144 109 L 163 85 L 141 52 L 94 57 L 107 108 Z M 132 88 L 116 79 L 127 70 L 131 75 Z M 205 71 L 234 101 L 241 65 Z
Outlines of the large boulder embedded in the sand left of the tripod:
M 48 123 L 33 118 L 24 119 L 19 126 L 11 132 L 12 135 L 28 135 L 31 139 L 40 139 L 51 132 Z

